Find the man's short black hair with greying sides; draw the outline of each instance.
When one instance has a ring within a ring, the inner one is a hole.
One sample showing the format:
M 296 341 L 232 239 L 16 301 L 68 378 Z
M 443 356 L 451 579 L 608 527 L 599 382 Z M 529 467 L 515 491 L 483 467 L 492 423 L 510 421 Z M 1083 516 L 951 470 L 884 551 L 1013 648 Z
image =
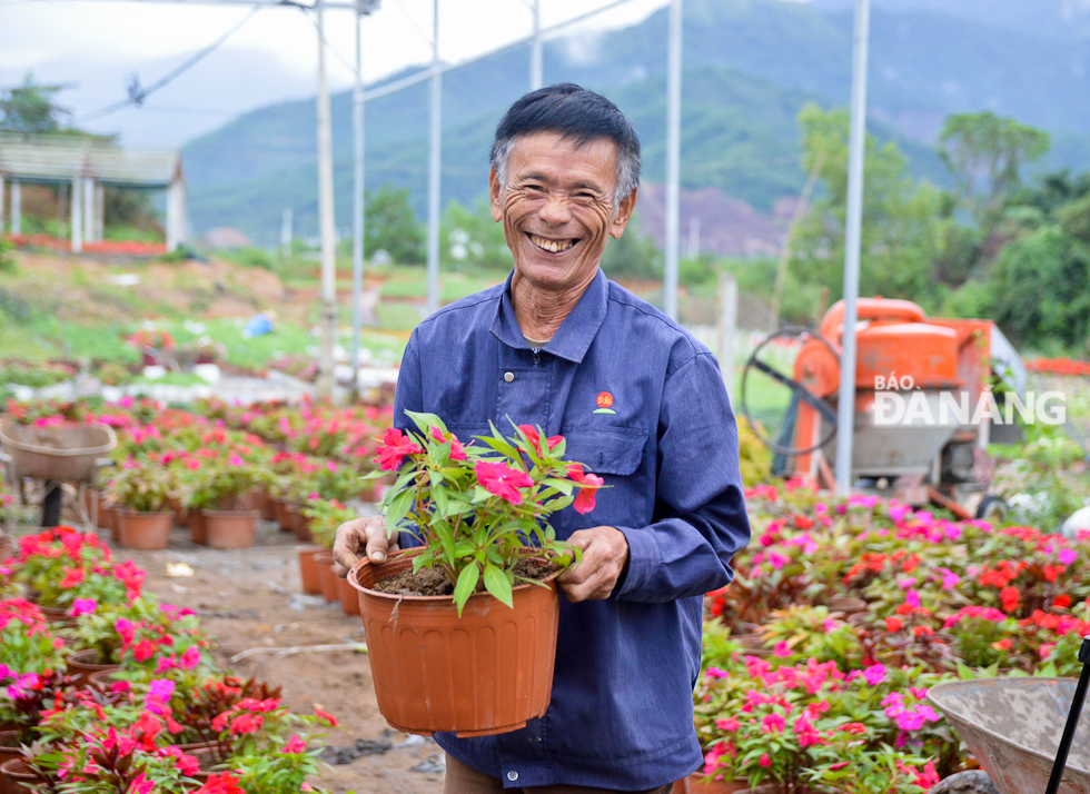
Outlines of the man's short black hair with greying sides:
M 501 185 L 507 181 L 507 157 L 515 139 L 535 132 L 556 132 L 576 146 L 608 138 L 617 146 L 617 189 L 614 206 L 640 186 L 640 138 L 616 105 L 573 82 L 531 91 L 507 108 L 492 143 L 492 167 Z

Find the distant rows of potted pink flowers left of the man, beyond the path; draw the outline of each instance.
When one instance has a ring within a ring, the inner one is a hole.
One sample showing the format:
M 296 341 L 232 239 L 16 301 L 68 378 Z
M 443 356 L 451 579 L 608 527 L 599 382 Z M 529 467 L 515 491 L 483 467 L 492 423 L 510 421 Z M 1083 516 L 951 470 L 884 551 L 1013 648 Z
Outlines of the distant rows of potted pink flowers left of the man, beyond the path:
M 307 540 L 301 508 L 315 495 L 340 503 L 375 499 L 375 485 L 361 483 L 359 476 L 375 468 L 374 437 L 388 421 L 388 410 L 374 406 L 336 409 L 339 418 L 329 420 L 325 428 L 314 419 L 308 437 L 321 451 L 344 445 L 345 424 L 351 425 L 351 438 L 365 428 L 371 436 L 366 444 L 353 441 L 350 455 L 334 458 L 287 449 L 275 434 L 269 439 L 229 427 L 216 416 L 222 406 L 199 407 L 212 416 L 131 398 L 98 409 L 87 404 L 56 403 L 11 403 L 8 408 L 18 421 L 43 428 L 98 421 L 117 430 L 119 443 L 111 454 L 115 468 L 97 507 L 99 525 L 109 527 L 127 547 L 165 547 L 174 523 L 188 524 L 198 543 L 247 546 L 254 540 L 259 514 L 279 520 Z M 308 404 L 299 410 L 310 409 Z M 334 409 L 319 404 L 308 415 L 326 410 Z M 278 406 L 265 416 L 284 418 L 298 413 Z M 349 416 L 355 418 L 349 421 Z M 370 457 L 357 454 L 365 448 Z

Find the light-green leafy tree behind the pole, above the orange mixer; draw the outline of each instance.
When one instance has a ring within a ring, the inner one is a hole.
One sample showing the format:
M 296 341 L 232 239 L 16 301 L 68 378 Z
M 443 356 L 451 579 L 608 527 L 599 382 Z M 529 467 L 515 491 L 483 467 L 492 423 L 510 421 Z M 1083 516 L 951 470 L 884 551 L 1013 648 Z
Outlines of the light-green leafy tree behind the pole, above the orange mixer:
M 800 221 L 790 269 L 797 280 L 843 291 L 844 231 L 848 215 L 849 113 L 813 102 L 799 115 L 803 169 L 821 161 L 823 195 Z M 935 306 L 934 264 L 941 257 L 944 226 L 942 193 L 908 172 L 896 143 L 866 136 L 863 176 L 863 230 L 860 292 Z

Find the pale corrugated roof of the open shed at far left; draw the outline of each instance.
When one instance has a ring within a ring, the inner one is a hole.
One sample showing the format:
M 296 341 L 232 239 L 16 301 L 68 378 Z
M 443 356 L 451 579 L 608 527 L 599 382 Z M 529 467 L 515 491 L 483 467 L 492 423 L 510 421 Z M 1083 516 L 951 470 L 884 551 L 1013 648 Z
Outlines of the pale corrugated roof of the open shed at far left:
M 181 152 L 119 149 L 79 138 L 0 138 L 0 173 L 8 179 L 83 176 L 109 185 L 166 187 L 181 177 Z

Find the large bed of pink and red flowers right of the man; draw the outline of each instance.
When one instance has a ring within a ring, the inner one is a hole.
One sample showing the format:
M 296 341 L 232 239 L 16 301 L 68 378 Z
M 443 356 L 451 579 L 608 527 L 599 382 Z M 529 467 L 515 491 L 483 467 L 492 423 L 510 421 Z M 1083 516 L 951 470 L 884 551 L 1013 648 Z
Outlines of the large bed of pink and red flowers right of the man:
M 789 482 L 746 494 L 754 542 L 705 598 L 703 776 L 911 794 L 974 760 L 931 686 L 1078 674 L 1087 533 L 959 522 Z

